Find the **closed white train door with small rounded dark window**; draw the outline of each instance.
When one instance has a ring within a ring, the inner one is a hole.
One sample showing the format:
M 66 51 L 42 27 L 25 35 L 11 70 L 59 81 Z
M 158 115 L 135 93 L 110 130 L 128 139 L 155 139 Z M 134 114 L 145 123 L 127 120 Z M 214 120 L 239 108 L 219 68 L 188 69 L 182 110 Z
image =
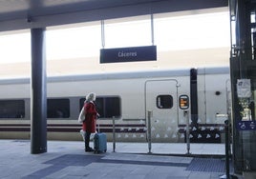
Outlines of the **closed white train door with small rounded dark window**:
M 152 142 L 177 142 L 178 82 L 176 80 L 147 81 L 145 106 L 148 131 Z M 151 115 L 150 118 L 148 115 Z

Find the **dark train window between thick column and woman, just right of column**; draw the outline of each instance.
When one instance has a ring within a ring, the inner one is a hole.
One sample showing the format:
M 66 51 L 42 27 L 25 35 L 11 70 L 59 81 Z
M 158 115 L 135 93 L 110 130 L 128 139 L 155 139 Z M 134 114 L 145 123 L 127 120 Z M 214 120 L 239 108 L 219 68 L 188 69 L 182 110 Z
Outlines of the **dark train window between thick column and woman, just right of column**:
M 69 99 L 47 99 L 47 118 L 69 118 Z

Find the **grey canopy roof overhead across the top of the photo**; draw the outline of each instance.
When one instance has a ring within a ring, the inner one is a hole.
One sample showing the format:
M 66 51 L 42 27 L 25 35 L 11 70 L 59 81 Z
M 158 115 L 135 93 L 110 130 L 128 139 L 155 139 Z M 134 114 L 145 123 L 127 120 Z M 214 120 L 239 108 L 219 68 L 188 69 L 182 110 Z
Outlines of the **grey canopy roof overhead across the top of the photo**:
M 226 6 L 227 0 L 1 0 L 0 31 Z

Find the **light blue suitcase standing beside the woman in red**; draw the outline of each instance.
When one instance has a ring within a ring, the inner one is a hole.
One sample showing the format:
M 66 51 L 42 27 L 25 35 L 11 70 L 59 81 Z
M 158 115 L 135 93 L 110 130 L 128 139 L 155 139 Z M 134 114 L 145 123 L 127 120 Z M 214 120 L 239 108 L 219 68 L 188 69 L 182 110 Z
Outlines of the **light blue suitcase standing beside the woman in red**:
M 95 153 L 107 151 L 107 136 L 106 133 L 96 133 L 94 138 Z

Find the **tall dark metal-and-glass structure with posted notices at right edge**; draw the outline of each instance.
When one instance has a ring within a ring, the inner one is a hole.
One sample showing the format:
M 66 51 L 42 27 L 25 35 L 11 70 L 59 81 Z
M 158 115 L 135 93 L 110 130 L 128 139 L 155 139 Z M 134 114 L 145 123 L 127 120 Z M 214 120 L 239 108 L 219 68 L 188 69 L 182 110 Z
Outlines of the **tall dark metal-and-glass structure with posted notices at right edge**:
M 236 173 L 256 175 L 255 120 L 255 6 L 252 1 L 230 0 L 231 34 L 230 73 L 232 86 L 233 162 Z M 234 36 L 233 36 L 234 35 Z M 251 174 L 253 173 L 253 174 Z M 253 177 L 254 176 L 254 177 Z

